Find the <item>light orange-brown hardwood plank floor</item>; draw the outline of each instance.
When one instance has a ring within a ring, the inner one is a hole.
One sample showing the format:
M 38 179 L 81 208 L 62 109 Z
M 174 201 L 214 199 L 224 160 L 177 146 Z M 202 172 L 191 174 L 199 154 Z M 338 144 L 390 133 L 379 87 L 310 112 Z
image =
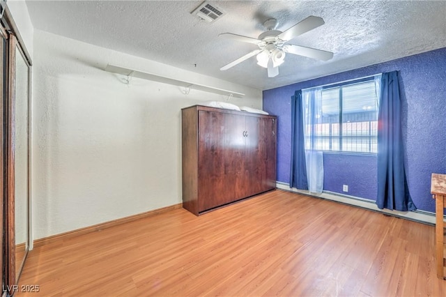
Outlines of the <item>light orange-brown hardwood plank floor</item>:
M 43 245 L 17 296 L 446 296 L 434 227 L 275 190 Z

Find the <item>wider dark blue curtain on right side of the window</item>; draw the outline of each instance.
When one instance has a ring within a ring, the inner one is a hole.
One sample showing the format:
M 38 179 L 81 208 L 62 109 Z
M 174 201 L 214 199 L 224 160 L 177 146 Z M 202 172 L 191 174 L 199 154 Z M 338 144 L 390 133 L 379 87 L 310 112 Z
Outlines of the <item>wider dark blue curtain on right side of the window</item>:
M 378 109 L 378 208 L 415 211 L 404 171 L 397 71 L 383 73 Z

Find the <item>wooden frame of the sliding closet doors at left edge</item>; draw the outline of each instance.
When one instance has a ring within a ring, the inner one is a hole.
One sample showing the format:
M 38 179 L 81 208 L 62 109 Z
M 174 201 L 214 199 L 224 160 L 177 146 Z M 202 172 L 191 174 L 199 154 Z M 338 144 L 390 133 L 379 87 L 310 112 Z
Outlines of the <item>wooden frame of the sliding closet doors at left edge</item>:
M 15 272 L 15 141 L 14 141 L 14 130 L 15 130 L 15 119 L 14 119 L 14 106 L 15 106 L 15 53 L 16 47 L 20 50 L 20 53 L 24 57 L 26 64 L 29 68 L 28 71 L 28 98 L 26 104 L 28 105 L 28 122 L 26 123 L 28 129 L 28 197 L 27 201 L 27 248 L 24 259 L 31 245 L 30 236 L 30 223 L 31 223 L 31 56 L 24 46 L 24 41 L 20 36 L 17 26 L 13 20 L 10 10 L 6 6 L 1 17 L 0 24 L 1 34 L 6 36 L 6 63 L 1 69 L 1 79 L 5 81 L 6 84 L 3 85 L 1 93 L 1 105 L 3 113 L 1 114 L 1 139 L 2 139 L 2 151 L 1 155 L 1 192 L 2 192 L 2 208 L 1 209 L 1 223 L 4 237 L 2 238 L 2 254 L 4 258 L 1 260 L 3 265 L 2 270 L 2 296 L 12 296 L 17 292 L 17 281 L 21 273 L 19 271 L 16 275 Z M 3 52 L 4 54 L 4 52 Z M 4 91 L 3 91 L 4 90 Z M 3 95 L 6 98 L 3 98 Z M 6 124 L 6 127 L 3 126 Z M 6 146 L 6 147 L 4 147 Z M 32 245 L 31 245 L 32 246 Z M 23 262 L 22 262 L 23 264 Z

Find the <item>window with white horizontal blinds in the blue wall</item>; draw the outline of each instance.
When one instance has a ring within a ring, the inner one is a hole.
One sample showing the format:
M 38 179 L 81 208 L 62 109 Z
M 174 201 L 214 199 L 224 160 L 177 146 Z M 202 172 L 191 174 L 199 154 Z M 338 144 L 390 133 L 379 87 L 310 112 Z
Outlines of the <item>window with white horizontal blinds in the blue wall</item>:
M 376 153 L 378 134 L 378 92 L 374 77 L 322 89 L 321 112 L 307 135 L 314 136 L 320 151 Z M 309 149 L 309 142 L 307 149 Z

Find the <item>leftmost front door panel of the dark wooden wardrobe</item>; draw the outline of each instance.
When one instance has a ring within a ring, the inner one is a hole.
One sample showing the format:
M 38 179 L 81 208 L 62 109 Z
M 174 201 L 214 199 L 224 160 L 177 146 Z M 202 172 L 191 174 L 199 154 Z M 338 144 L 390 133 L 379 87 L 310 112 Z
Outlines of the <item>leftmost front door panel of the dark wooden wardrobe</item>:
M 198 121 L 198 203 L 206 211 L 226 203 L 224 114 L 199 110 Z

